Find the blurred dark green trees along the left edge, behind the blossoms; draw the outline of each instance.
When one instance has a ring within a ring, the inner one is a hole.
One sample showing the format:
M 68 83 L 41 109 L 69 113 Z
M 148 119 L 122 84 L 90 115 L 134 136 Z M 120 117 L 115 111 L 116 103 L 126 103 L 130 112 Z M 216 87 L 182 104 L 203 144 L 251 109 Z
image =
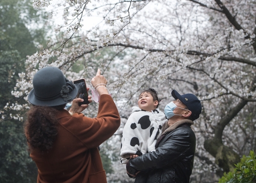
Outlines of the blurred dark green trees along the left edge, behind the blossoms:
M 37 168 L 29 157 L 23 123 L 10 118 L 17 111 L 5 111 L 18 73 L 25 71 L 25 59 L 45 45 L 45 29 L 37 25 L 40 14 L 31 0 L 0 1 L 0 180 L 1 182 L 36 182 Z M 33 24 L 33 25 L 32 25 Z M 34 28 L 33 28 L 34 27 Z M 23 103 L 24 100 L 19 101 Z M 14 102 L 15 103 L 15 102 Z M 3 115 L 7 117 L 2 118 Z

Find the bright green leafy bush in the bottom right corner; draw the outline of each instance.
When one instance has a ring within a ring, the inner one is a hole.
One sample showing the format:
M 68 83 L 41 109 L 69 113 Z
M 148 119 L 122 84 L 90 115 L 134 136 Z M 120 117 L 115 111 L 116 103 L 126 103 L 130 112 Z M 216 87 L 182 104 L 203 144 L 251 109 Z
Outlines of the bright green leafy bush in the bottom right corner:
M 224 173 L 219 183 L 256 182 L 256 156 L 250 151 L 249 156 L 243 155 L 241 162 L 235 165 L 233 172 Z

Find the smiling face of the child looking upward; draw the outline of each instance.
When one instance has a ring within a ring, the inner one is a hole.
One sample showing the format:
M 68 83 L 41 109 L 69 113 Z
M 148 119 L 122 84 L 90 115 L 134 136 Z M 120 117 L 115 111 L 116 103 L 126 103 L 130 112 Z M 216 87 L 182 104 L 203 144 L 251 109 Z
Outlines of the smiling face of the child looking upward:
M 158 101 L 153 99 L 152 95 L 144 92 L 140 94 L 139 100 L 138 100 L 138 106 L 139 108 L 146 110 L 146 111 L 151 111 L 156 109 L 158 105 Z

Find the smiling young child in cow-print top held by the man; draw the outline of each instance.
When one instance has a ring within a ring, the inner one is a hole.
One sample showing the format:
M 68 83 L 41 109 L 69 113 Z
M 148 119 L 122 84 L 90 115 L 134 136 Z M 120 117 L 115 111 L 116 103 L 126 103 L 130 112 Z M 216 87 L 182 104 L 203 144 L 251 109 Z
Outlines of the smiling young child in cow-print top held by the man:
M 154 151 L 161 128 L 167 121 L 158 108 L 159 99 L 155 89 L 143 91 L 132 114 L 123 128 L 121 140 L 121 164 L 126 164 L 134 155 Z

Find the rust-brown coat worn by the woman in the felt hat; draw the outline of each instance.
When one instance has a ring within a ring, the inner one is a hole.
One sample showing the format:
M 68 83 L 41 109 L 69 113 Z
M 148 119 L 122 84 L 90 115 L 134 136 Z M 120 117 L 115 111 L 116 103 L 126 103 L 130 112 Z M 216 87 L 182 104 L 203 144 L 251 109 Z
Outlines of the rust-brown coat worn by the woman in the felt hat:
M 120 125 L 116 105 L 109 95 L 100 97 L 97 118 L 81 113 L 59 115 L 57 138 L 49 152 L 30 154 L 38 168 L 37 182 L 106 183 L 97 147 L 109 139 Z

